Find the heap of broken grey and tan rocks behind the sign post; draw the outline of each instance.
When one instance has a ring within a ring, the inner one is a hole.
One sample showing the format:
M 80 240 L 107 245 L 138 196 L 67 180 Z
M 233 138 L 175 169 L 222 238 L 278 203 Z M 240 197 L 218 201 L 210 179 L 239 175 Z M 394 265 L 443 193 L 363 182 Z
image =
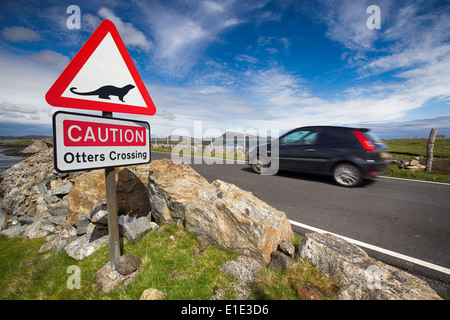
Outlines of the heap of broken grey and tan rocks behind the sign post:
M 122 219 L 121 231 L 135 242 L 155 228 L 146 218 L 134 221 L 150 211 L 148 168 L 117 168 L 116 174 L 119 214 L 133 215 L 132 220 Z M 102 170 L 58 173 L 53 149 L 46 148 L 3 172 L 0 181 L 2 236 L 44 238 L 40 252 L 65 249 L 77 260 L 108 243 Z

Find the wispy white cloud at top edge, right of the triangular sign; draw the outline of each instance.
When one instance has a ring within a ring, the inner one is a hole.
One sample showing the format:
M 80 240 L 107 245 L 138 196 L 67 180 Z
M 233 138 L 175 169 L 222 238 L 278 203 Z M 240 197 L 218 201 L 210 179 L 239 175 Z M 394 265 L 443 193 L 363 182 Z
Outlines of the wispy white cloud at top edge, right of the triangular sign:
M 176 1 L 175 1 L 176 2 Z M 265 6 L 262 1 L 193 1 L 165 3 L 140 8 L 154 40 L 158 71 L 184 76 L 199 61 L 206 48 L 230 27 L 246 23 L 244 15 Z M 273 15 L 259 21 L 273 19 Z

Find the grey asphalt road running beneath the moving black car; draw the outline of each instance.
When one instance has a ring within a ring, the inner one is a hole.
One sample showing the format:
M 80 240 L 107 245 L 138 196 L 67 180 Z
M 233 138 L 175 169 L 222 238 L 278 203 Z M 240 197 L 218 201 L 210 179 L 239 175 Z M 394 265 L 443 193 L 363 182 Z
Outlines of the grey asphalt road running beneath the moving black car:
M 152 160 L 167 157 L 152 152 Z M 284 211 L 302 224 L 292 224 L 300 234 L 318 228 L 348 237 L 367 244 L 374 258 L 450 284 L 450 185 L 381 177 L 343 188 L 328 177 L 260 176 L 246 164 L 191 166 L 209 182 L 233 183 Z

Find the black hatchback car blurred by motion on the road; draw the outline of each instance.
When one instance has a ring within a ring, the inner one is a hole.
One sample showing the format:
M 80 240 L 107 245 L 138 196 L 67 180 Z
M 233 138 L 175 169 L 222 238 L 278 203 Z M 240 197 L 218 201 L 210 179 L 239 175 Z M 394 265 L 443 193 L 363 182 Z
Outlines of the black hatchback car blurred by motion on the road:
M 314 126 L 252 148 L 249 164 L 260 174 L 274 173 L 275 167 L 275 173 L 280 169 L 331 175 L 339 185 L 355 187 L 384 172 L 387 157 L 386 146 L 369 129 Z

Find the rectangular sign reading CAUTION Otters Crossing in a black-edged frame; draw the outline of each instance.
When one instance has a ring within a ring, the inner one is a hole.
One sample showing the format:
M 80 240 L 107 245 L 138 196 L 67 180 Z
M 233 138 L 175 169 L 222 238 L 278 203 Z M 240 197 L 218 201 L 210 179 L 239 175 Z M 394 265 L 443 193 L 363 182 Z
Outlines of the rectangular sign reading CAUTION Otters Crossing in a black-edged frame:
M 150 125 L 59 111 L 53 115 L 53 150 L 58 172 L 149 163 Z

